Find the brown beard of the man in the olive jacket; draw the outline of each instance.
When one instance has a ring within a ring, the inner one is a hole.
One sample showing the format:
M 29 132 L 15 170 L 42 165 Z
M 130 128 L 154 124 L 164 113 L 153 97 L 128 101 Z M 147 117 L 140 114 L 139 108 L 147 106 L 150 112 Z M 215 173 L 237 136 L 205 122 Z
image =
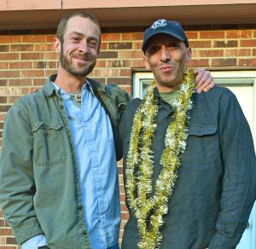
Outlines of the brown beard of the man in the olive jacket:
M 63 46 L 61 44 L 61 55 L 60 55 L 61 67 L 63 67 L 67 72 L 69 72 L 73 76 L 85 77 L 93 70 L 93 68 L 96 65 L 96 57 L 93 55 L 90 55 L 90 54 L 83 55 L 80 53 L 75 54 L 75 52 L 72 52 L 70 55 L 71 57 L 67 57 L 67 55 L 64 55 Z M 74 55 L 74 57 L 76 58 L 80 58 L 82 60 L 87 61 L 88 64 L 83 65 L 81 67 L 79 67 L 79 65 L 75 66 L 71 60 L 72 55 Z

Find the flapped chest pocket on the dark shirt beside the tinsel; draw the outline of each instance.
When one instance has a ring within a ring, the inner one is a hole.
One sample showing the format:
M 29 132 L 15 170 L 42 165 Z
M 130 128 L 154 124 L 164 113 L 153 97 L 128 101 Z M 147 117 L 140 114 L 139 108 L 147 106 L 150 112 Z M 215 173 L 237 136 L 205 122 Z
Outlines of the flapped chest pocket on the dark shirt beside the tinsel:
M 218 128 L 213 126 L 190 126 L 183 160 L 212 163 L 219 151 Z

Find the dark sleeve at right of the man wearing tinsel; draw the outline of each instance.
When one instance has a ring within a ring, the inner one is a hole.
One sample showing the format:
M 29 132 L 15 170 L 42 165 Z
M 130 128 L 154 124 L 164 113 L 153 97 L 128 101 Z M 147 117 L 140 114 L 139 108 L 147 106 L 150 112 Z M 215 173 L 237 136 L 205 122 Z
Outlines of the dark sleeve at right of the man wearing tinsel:
M 224 178 L 216 233 L 208 247 L 231 249 L 241 240 L 256 198 L 256 161 L 252 134 L 236 96 L 224 94 L 219 108 Z

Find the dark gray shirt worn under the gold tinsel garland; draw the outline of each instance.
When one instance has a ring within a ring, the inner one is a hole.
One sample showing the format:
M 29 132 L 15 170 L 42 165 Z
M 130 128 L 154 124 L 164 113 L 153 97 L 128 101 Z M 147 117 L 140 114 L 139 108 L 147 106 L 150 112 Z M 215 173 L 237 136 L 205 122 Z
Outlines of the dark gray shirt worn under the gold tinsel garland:
M 152 146 L 153 186 L 162 169 L 160 156 L 166 128 L 173 119 L 172 106 L 155 93 L 159 113 Z M 140 103 L 139 99 L 131 101 L 119 124 L 124 175 L 132 119 Z M 194 95 L 193 103 L 187 148 L 181 157 L 169 211 L 161 228 L 160 248 L 235 248 L 256 197 L 253 138 L 236 96 L 230 90 L 214 87 L 207 94 Z M 137 248 L 137 219 L 127 200 L 126 205 L 131 217 L 125 225 L 122 249 Z

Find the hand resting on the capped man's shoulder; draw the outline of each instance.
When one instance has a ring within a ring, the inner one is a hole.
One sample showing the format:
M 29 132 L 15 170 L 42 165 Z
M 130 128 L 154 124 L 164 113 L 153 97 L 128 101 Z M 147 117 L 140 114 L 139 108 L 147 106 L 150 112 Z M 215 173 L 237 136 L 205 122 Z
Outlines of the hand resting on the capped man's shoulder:
M 215 85 L 215 82 L 212 78 L 211 72 L 206 71 L 204 68 L 195 69 L 195 90 L 197 93 L 201 93 L 202 91 L 207 92 L 211 90 Z

